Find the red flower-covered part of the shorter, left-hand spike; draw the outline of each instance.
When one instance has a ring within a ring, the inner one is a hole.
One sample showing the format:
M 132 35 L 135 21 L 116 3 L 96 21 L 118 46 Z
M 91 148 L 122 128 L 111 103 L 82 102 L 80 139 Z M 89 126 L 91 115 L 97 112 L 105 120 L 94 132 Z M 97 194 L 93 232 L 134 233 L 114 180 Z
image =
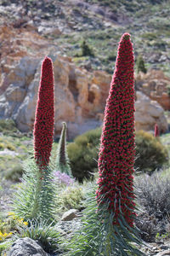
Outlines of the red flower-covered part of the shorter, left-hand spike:
M 35 160 L 39 166 L 48 166 L 54 137 L 54 73 L 48 57 L 42 61 L 33 134 Z

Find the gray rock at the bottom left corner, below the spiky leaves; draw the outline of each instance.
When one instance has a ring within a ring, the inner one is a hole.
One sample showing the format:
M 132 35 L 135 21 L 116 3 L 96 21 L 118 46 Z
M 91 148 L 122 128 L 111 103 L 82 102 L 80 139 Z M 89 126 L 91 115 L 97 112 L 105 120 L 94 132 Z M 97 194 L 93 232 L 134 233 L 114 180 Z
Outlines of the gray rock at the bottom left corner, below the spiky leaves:
M 20 238 L 14 242 L 8 256 L 48 256 L 36 241 L 29 237 Z

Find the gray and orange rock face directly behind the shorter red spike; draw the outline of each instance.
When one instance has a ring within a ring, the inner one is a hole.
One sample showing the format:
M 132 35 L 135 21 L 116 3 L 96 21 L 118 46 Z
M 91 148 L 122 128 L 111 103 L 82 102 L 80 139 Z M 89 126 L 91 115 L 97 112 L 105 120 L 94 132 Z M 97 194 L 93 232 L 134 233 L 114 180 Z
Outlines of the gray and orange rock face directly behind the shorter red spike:
M 101 125 L 100 114 L 105 108 L 111 75 L 101 71 L 89 73 L 59 55 L 50 57 L 54 61 L 55 134 L 62 121 L 67 122 L 70 138 Z M 2 81 L 0 116 L 13 118 L 20 131 L 32 129 L 40 61 L 28 56 L 21 58 Z

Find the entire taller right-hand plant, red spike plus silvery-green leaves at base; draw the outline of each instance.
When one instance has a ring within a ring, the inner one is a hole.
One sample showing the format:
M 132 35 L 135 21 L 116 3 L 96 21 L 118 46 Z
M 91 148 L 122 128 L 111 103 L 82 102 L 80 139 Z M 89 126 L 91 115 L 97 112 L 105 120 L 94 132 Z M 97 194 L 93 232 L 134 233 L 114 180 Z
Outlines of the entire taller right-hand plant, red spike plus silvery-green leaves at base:
M 84 213 L 88 220 L 83 221 L 81 236 L 73 237 L 69 255 L 144 255 L 134 246 L 141 241 L 133 226 L 136 217 L 133 63 L 133 45 L 130 35 L 125 33 L 119 43 L 105 107 L 97 202 L 88 203 Z

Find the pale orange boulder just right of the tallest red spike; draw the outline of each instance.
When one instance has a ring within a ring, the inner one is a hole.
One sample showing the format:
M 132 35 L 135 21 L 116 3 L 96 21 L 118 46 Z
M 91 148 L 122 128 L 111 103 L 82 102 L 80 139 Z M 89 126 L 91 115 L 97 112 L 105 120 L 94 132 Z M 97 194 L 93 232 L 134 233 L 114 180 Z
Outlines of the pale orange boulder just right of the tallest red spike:
M 164 110 L 156 101 L 151 101 L 141 91 L 137 91 L 137 101 L 135 102 L 135 128 L 137 131 L 153 131 L 155 125 L 159 127 L 159 131 L 167 131 L 167 119 Z

